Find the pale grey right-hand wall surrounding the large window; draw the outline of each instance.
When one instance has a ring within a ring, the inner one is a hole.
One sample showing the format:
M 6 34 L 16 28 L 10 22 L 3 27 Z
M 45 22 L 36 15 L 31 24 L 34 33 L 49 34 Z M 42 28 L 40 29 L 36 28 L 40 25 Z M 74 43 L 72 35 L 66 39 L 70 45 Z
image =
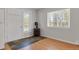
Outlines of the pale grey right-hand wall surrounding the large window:
M 47 27 L 47 12 L 60 9 L 61 8 L 47 8 L 38 11 L 41 35 L 77 44 L 79 42 L 79 9 L 71 9 L 70 29 Z

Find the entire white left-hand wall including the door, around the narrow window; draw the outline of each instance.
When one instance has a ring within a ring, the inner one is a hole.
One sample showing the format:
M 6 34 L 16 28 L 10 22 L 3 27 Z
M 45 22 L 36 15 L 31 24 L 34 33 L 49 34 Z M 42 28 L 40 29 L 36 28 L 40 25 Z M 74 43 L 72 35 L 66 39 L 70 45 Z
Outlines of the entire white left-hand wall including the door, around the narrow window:
M 23 32 L 24 13 L 30 14 L 30 31 Z M 6 42 L 25 38 L 33 35 L 35 9 L 1 8 L 0 9 L 0 49 Z

